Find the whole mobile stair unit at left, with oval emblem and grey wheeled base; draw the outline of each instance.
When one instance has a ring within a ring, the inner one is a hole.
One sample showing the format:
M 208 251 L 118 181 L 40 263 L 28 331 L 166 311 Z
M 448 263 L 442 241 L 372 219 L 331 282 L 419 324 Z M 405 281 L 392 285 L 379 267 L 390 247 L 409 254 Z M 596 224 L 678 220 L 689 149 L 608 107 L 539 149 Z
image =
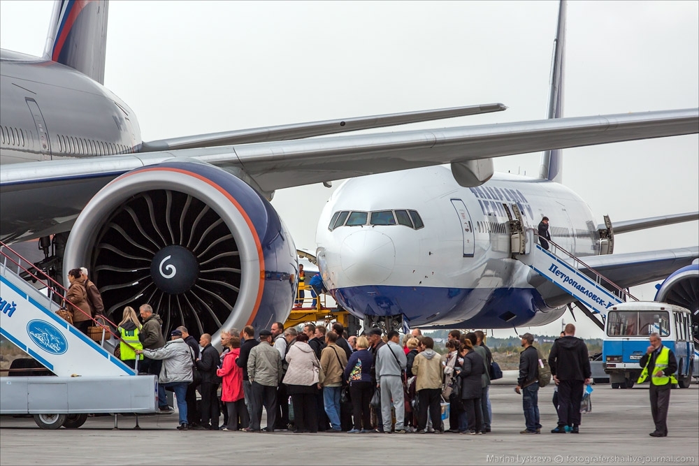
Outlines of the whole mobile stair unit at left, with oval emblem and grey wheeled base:
M 0 415 L 29 414 L 39 427 L 57 429 L 78 428 L 89 414 L 107 413 L 115 416 L 116 428 L 117 413 L 157 412 L 156 376 L 137 375 L 113 356 L 108 342 L 117 337 L 108 338 L 108 326 L 95 342 L 58 316 L 52 296 L 64 296 L 66 290 L 0 246 L 0 335 L 55 376 L 12 377 L 10 372 L 0 377 Z M 45 288 L 39 291 L 22 276 Z

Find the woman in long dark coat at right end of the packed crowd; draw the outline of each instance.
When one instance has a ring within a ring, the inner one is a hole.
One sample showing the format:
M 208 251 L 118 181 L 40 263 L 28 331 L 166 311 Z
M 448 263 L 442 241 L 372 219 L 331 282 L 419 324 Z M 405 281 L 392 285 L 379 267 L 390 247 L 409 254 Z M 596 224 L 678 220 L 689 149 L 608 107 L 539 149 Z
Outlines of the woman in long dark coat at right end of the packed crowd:
M 464 409 L 459 423 L 459 433 L 482 434 L 483 412 L 480 398 L 483 393 L 485 363 L 482 356 L 473 348 L 473 342 L 468 337 L 459 349 L 459 355 L 463 358 L 459 377 L 461 377 L 461 402 Z

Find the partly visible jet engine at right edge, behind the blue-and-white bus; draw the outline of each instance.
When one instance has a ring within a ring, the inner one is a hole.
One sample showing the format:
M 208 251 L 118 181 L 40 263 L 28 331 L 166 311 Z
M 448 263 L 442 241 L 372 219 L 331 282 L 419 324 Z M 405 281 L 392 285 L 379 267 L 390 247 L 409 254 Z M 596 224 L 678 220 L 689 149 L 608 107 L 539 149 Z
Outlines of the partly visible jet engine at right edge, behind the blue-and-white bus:
M 666 278 L 655 300 L 689 309 L 692 313 L 692 332 L 699 339 L 699 261 L 695 260 Z

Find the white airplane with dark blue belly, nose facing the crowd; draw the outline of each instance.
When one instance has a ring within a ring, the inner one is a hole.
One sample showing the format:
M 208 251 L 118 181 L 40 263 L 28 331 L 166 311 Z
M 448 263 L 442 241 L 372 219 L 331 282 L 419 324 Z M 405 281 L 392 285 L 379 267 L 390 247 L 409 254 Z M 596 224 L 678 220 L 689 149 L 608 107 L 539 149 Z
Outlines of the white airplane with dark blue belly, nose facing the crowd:
M 562 1 L 547 108 L 552 121 L 563 109 L 565 16 Z M 347 180 L 333 192 L 317 227 L 326 288 L 365 327 L 512 329 L 552 323 L 578 300 L 514 259 L 515 209 L 528 230 L 536 231 L 548 217 L 557 245 L 621 288 L 696 270 L 696 246 L 612 252 L 614 235 L 696 221 L 699 212 L 598 224 L 589 205 L 561 184 L 561 150 L 542 154 L 538 175 L 494 173 L 475 186 L 459 182 L 452 165 Z M 679 292 L 675 304 L 693 310 L 699 330 L 699 281 L 668 286 Z M 663 296 L 672 293 L 668 286 Z

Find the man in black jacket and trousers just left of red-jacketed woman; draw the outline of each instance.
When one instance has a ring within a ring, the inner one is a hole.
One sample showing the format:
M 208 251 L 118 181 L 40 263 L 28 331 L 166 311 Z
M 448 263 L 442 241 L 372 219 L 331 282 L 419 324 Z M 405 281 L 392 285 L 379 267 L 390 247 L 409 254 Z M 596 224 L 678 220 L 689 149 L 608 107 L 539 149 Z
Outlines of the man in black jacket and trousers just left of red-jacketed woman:
M 219 386 L 219 377 L 216 372 L 220 363 L 219 352 L 211 345 L 211 335 L 204 333 L 199 338 L 202 347 L 201 356 L 196 359 L 196 368 L 201 374 L 201 423 L 197 430 L 218 430 L 219 405 L 216 392 Z

